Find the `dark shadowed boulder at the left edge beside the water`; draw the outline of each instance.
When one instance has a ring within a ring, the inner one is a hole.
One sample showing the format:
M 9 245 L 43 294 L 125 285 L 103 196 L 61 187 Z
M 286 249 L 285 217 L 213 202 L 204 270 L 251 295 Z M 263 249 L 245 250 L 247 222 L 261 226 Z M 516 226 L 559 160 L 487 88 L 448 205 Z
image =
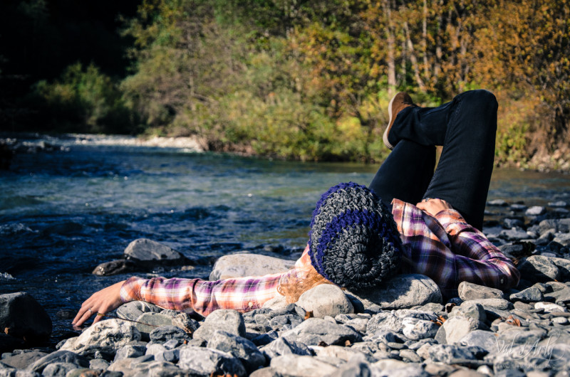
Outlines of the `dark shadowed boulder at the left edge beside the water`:
M 51 328 L 50 317 L 30 294 L 0 294 L 1 332 L 33 344 L 49 339 Z

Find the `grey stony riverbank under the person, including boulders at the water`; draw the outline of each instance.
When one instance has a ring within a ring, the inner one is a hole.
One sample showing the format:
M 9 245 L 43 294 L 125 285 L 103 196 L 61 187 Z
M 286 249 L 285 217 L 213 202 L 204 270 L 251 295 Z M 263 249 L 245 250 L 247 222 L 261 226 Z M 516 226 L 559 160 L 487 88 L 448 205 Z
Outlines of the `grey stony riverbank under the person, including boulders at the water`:
M 321 285 L 295 304 L 274 299 L 205 319 L 131 302 L 55 349 L 28 346 L 51 326 L 33 298 L 4 294 L 0 376 L 568 376 L 569 205 L 494 201 L 488 208 L 496 219 L 487 221 L 487 237 L 522 275 L 515 290 L 463 282 L 458 297 L 443 300 L 429 278 L 399 275 L 373 292 Z M 161 257 L 188 262 L 169 249 L 138 240 L 123 260 L 135 261 L 135 270 Z M 227 255 L 210 277 L 289 265 Z

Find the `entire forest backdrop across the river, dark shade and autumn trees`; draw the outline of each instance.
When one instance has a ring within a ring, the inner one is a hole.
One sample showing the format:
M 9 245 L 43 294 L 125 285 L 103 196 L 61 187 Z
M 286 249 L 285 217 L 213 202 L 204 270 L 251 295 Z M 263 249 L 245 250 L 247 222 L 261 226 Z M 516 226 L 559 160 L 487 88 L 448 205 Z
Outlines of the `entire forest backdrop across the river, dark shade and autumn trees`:
M 432 106 L 486 88 L 499 164 L 570 169 L 569 13 L 570 0 L 3 0 L 0 124 L 375 161 L 396 91 Z

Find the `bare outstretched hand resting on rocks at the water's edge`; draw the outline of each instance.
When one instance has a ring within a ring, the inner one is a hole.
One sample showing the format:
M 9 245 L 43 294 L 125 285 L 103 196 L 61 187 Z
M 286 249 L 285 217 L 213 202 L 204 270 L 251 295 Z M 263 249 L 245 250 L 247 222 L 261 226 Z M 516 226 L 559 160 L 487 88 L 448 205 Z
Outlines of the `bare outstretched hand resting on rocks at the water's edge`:
M 95 315 L 93 324 L 96 324 L 103 319 L 105 314 L 120 307 L 123 304 L 123 301 L 120 299 L 120 288 L 124 282 L 125 281 L 118 282 L 99 292 L 93 293 L 91 297 L 81 304 L 81 309 L 79 309 L 79 312 L 71 324 L 73 324 L 73 326 L 81 326 L 93 315 Z

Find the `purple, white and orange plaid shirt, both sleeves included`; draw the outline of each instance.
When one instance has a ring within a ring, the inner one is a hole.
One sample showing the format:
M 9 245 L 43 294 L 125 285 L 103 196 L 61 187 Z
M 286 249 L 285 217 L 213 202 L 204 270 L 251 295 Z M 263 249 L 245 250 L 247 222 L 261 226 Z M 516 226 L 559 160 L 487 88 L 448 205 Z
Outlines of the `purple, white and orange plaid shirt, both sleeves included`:
M 457 211 L 447 209 L 434 217 L 398 199 L 392 204 L 403 242 L 403 273 L 427 275 L 447 295 L 457 294 L 464 281 L 500 290 L 518 284 L 519 271 L 511 260 Z M 307 245 L 296 267 L 311 263 L 308 252 Z M 216 309 L 247 312 L 278 297 L 279 281 L 294 279 L 297 271 L 217 281 L 131 277 L 121 287 L 120 297 L 123 302 L 142 300 L 204 316 Z

